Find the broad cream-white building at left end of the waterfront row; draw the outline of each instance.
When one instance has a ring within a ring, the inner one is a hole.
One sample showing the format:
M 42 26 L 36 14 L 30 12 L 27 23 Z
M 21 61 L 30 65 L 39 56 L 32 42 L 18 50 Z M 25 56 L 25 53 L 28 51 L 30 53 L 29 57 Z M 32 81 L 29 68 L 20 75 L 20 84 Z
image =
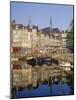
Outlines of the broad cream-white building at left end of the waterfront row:
M 31 48 L 30 32 L 28 29 L 23 27 L 20 29 L 18 25 L 16 29 L 12 31 L 13 36 L 13 47 Z

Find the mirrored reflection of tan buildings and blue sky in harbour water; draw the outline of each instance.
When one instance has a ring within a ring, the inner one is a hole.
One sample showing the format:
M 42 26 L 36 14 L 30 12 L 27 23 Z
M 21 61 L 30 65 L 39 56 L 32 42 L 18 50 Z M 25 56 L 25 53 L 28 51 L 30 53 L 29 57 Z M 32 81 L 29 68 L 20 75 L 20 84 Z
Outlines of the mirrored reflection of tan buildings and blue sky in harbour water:
M 12 84 L 16 88 L 17 98 L 74 93 L 73 74 L 57 65 L 32 67 L 24 63 L 21 68 L 13 69 Z

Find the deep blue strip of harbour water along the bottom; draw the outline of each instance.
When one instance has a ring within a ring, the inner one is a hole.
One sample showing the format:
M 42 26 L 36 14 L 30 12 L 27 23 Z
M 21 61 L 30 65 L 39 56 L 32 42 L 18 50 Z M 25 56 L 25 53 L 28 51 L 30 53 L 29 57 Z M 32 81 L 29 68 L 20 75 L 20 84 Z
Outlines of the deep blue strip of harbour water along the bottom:
M 42 84 L 38 88 L 26 88 L 22 91 L 16 92 L 16 98 L 22 97 L 39 97 L 39 96 L 61 96 L 61 95 L 72 95 L 73 86 L 72 84 L 68 85 L 66 83 L 61 84 Z

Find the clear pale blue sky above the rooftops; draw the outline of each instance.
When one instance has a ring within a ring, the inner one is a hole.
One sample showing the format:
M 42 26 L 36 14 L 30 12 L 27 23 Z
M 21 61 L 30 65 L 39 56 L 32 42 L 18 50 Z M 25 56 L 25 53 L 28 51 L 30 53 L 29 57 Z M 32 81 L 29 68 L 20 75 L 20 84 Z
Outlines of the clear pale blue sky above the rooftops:
M 73 19 L 73 6 L 11 2 L 11 21 L 15 20 L 17 24 L 27 26 L 29 16 L 31 16 L 31 24 L 39 26 L 39 29 L 50 26 L 51 16 L 52 28 L 66 30 Z

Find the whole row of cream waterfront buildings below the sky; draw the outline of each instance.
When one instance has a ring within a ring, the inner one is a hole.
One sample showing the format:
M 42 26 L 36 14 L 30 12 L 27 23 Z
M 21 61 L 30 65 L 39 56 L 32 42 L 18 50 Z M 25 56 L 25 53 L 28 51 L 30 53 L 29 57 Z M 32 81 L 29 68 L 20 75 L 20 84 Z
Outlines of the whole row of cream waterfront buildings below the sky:
M 14 22 L 12 27 L 12 47 L 14 50 L 31 49 L 39 52 L 40 49 L 66 47 L 66 33 L 52 32 L 50 36 L 38 31 L 38 26 L 23 26 Z M 21 49 L 20 49 L 21 48 Z

